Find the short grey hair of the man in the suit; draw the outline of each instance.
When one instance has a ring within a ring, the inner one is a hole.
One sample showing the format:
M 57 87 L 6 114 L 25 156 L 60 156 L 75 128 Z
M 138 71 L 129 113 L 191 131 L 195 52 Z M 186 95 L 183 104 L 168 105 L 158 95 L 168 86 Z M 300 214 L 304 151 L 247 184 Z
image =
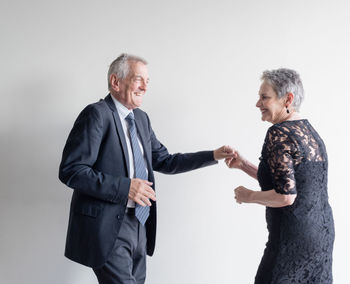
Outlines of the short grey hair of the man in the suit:
M 108 70 L 108 89 L 111 88 L 110 77 L 112 74 L 116 74 L 117 77 L 121 80 L 125 79 L 129 74 L 129 63 L 130 61 L 142 62 L 147 65 L 147 61 L 139 56 L 122 53 L 117 59 L 115 59 Z

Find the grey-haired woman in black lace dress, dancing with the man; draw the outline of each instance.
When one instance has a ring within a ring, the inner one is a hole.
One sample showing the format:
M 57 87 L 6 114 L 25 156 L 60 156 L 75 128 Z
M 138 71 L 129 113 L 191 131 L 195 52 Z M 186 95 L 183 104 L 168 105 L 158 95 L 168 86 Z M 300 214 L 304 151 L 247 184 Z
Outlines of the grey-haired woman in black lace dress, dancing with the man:
M 258 179 L 262 191 L 235 189 L 238 203 L 266 206 L 269 238 L 255 283 L 332 283 L 334 225 L 324 143 L 299 107 L 303 86 L 290 69 L 265 71 L 256 106 L 273 125 L 257 168 L 236 152 L 226 159 Z

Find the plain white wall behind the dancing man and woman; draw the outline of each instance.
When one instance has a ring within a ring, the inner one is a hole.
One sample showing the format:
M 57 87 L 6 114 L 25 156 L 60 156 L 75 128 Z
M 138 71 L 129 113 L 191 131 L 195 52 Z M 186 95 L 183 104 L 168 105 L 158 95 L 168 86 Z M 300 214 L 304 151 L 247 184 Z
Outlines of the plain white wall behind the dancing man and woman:
M 72 192 L 58 166 L 78 113 L 107 94 L 108 65 L 129 52 L 149 61 L 143 109 L 169 151 L 231 144 L 254 163 L 269 127 L 255 107 L 262 71 L 301 74 L 302 114 L 329 155 L 334 283 L 347 283 L 349 8 L 347 0 L 1 0 L 0 282 L 97 282 L 63 256 Z M 233 189 L 257 182 L 223 163 L 156 179 L 146 282 L 252 283 L 264 208 L 235 204 Z

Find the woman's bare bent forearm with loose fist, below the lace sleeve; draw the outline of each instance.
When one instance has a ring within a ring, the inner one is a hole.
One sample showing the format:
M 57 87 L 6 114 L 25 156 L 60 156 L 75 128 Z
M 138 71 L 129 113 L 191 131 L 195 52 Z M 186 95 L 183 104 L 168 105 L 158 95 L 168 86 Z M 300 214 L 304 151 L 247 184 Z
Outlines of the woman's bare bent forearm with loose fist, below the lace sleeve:
M 296 194 L 280 194 L 274 189 L 267 191 L 254 191 L 239 186 L 235 189 L 237 203 L 256 203 L 267 207 L 285 207 L 292 205 Z

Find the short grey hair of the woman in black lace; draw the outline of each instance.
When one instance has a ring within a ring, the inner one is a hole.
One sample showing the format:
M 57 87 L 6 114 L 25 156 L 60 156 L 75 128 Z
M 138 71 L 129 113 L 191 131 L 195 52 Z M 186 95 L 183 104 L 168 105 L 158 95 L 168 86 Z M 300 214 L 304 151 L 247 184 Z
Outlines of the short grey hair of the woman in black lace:
M 263 72 L 261 80 L 271 85 L 278 98 L 283 98 L 286 94 L 293 93 L 292 106 L 296 111 L 299 111 L 300 105 L 304 100 L 304 88 L 296 71 L 287 68 L 266 70 Z

